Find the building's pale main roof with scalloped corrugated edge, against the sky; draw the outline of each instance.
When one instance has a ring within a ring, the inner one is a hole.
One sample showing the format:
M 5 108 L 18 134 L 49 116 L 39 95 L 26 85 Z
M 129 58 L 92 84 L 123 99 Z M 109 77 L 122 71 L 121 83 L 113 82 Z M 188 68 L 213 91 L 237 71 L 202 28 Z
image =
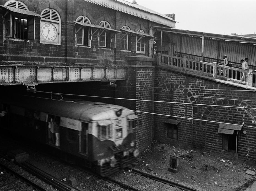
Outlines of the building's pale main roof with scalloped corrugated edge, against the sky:
M 127 13 L 139 18 L 143 18 L 168 27 L 175 27 L 176 21 L 172 18 L 160 14 L 138 4 L 133 4 L 124 0 L 84 0 L 103 7 L 111 8 L 122 13 Z

